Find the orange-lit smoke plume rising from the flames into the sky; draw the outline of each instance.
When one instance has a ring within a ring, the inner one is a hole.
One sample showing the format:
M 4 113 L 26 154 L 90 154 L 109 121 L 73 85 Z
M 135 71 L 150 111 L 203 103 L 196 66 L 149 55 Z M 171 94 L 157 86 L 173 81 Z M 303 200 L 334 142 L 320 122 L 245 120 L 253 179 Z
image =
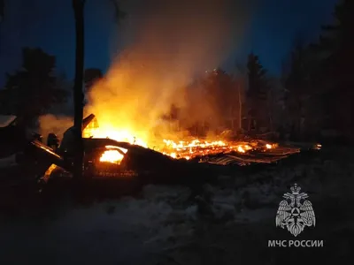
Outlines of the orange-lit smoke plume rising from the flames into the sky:
M 114 42 L 120 46 L 119 57 L 92 88 L 86 112 L 94 113 L 103 129 L 134 132 L 150 141 L 156 133 L 173 133 L 160 118 L 172 104 L 182 109 L 193 105 L 201 115 L 211 111 L 198 100 L 198 92 L 187 97 L 186 87 L 237 48 L 249 5 L 227 0 L 121 4 L 127 18 Z M 197 119 L 198 114 L 190 117 Z

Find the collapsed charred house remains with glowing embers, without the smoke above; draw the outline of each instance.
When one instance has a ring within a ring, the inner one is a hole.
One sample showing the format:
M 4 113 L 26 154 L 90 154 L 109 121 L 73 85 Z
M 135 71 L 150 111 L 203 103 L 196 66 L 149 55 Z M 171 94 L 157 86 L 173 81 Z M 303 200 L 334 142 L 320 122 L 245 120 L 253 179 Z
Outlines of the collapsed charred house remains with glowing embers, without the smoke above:
M 12 124 L 4 126 L 1 132 L 3 134 L 8 131 L 18 132 L 15 134 L 23 137 L 16 140 L 12 135 L 12 138 L 3 137 L 3 139 L 12 139 L 12 142 L 7 142 L 7 146 L 16 146 L 17 152 L 25 152 L 27 159 L 41 165 L 40 170 L 45 172 L 42 171 L 40 178 L 44 181 L 48 180 L 57 167 L 67 172 L 73 170 L 73 154 L 76 146 L 71 134 L 73 127 L 66 130 L 60 144 L 58 139 L 55 139 L 55 135 L 50 134 L 48 145 L 45 145 L 37 138 L 28 138 L 26 134 L 21 134 L 21 129 L 17 129 L 16 123 L 12 121 Z M 191 137 L 180 140 L 162 139 L 158 145 L 155 143 L 155 146 L 150 148 L 150 142 L 135 138 L 134 134 L 105 131 L 93 114 L 83 120 L 82 135 L 85 148 L 84 174 L 89 178 L 159 176 L 158 172 L 162 173 L 165 170 L 179 169 L 179 167 L 186 169 L 181 165 L 188 163 L 191 165 L 274 163 L 300 152 L 300 148 L 281 146 L 265 140 L 227 140 L 222 139 L 221 136 L 214 140 Z M 20 143 L 23 145 L 22 148 Z M 312 148 L 319 148 L 319 146 Z M 16 155 L 15 153 L 9 154 Z M 15 160 L 17 161 L 17 158 Z

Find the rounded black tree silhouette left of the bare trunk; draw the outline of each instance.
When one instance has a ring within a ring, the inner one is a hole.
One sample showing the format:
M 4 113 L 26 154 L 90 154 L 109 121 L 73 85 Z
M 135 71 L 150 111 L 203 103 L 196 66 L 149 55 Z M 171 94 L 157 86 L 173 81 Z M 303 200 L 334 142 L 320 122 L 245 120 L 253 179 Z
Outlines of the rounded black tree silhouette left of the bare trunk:
M 22 49 L 22 67 L 7 74 L 4 99 L 9 112 L 28 122 L 44 114 L 54 103 L 65 102 L 68 91 L 55 75 L 56 58 L 42 49 Z

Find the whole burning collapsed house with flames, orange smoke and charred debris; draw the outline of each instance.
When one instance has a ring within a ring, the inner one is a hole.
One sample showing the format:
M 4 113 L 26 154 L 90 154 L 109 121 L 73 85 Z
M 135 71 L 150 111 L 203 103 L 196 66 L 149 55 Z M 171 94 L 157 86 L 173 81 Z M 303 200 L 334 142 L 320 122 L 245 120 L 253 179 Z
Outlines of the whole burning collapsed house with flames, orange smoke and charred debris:
M 128 38 L 132 42 L 104 78 L 95 69 L 86 72 L 89 91 L 82 136 L 84 168 L 91 177 L 101 175 L 102 169 L 153 175 L 181 163 L 273 163 L 299 152 L 256 137 L 234 137 L 247 113 L 243 79 L 215 69 L 190 85 L 201 70 L 220 64 L 235 44 L 229 42 L 235 27 L 230 27 L 228 9 L 222 5 L 189 4 L 192 8 L 179 11 L 166 4 L 153 17 L 145 11 L 139 14 L 141 23 L 128 27 L 141 28 L 127 28 L 135 33 Z M 213 18 L 205 19 L 201 8 L 212 11 Z M 253 87 L 259 94 L 259 87 Z M 72 171 L 72 129 L 65 131 L 59 145 L 53 134 L 49 145 L 29 140 L 29 154 L 39 154 L 32 156 L 44 159 L 47 168 L 54 164 Z

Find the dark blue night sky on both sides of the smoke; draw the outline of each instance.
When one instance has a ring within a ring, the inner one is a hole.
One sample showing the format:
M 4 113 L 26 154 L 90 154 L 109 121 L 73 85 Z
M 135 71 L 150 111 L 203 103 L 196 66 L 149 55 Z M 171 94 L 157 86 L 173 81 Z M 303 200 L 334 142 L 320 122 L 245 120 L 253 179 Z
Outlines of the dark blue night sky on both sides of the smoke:
M 126 0 L 127 1 L 127 0 Z M 0 84 L 4 72 L 20 64 L 20 49 L 41 47 L 57 56 L 58 71 L 73 77 L 74 21 L 70 0 L 6 1 L 4 23 L 0 25 Z M 223 64 L 231 69 L 237 58 L 243 62 L 253 50 L 274 74 L 291 48 L 296 34 L 311 41 L 320 25 L 330 22 L 336 0 L 263 0 L 252 11 L 242 43 Z M 142 8 L 142 6 L 137 7 Z M 104 71 L 112 58 L 112 36 L 117 32 L 110 1 L 88 0 L 86 5 L 86 67 Z M 125 23 L 123 21 L 122 23 Z

